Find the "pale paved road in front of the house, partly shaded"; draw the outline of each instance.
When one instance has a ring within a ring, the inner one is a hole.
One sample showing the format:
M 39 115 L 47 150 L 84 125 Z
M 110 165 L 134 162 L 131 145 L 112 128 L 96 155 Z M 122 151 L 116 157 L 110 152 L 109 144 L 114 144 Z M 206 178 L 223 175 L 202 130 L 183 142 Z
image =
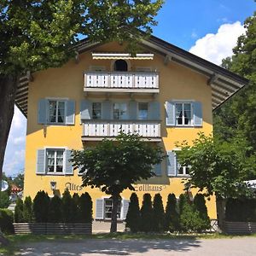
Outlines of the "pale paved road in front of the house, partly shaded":
M 82 255 L 146 255 L 146 256 L 223 256 L 256 255 L 256 238 L 233 239 L 172 239 L 172 240 L 84 240 L 48 241 L 22 245 L 18 255 L 82 256 Z

